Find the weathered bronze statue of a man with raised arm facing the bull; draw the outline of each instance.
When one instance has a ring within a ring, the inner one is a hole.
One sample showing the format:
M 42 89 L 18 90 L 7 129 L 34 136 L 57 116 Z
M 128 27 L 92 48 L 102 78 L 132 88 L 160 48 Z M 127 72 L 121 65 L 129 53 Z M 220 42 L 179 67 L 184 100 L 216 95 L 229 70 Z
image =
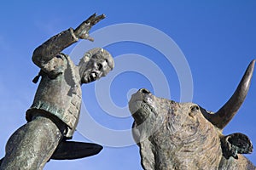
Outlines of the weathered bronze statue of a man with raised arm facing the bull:
M 73 28 L 49 38 L 32 55 L 41 69 L 32 106 L 26 111 L 27 123 L 9 138 L 6 154 L 0 161 L 2 170 L 43 169 L 49 159 L 77 159 L 96 155 L 99 144 L 67 141 L 79 122 L 81 85 L 105 77 L 113 69 L 113 58 L 103 48 L 84 54 L 79 65 L 61 51 L 79 39 L 93 40 L 89 31 L 105 15 L 93 14 L 75 30 Z

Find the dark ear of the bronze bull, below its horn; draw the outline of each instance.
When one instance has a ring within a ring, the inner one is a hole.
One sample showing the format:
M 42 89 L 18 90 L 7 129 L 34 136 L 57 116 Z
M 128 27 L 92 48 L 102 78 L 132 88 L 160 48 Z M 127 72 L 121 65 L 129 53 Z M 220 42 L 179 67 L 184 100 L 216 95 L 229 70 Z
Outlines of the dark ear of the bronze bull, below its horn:
M 221 139 L 221 147 L 223 150 L 223 156 L 229 159 L 233 156 L 238 159 L 237 154 L 249 154 L 253 152 L 253 144 L 247 135 L 242 133 L 233 133 L 224 136 Z

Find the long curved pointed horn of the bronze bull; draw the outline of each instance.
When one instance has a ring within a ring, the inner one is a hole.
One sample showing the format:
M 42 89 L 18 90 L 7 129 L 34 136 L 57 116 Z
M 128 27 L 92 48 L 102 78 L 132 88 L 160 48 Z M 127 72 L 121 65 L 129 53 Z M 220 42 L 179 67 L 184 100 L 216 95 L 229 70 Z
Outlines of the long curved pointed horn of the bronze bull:
M 250 87 L 255 61 L 256 59 L 253 59 L 250 65 L 248 65 L 247 71 L 244 73 L 243 77 L 241 78 L 241 82 L 239 83 L 235 93 L 231 96 L 229 101 L 227 101 L 227 103 L 222 106 L 222 108 L 220 108 L 215 114 L 209 114 L 209 121 L 212 122 L 212 124 L 216 127 L 223 129 L 239 110 L 241 104 L 247 96 L 247 92 Z

